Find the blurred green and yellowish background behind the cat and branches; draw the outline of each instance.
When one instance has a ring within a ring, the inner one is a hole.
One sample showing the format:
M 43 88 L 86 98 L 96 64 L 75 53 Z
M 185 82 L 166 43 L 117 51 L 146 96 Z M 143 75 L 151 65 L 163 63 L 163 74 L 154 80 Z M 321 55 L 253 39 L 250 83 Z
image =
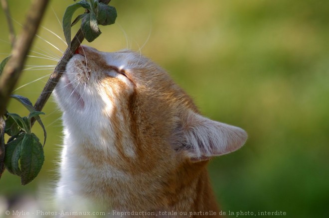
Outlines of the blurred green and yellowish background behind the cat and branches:
M 18 33 L 29 3 L 9 0 Z M 71 3 L 51 1 L 42 26 L 63 38 L 56 16 L 61 20 Z M 101 27 L 103 34 L 85 44 L 102 51 L 143 47 L 143 54 L 164 67 L 204 115 L 248 132 L 244 147 L 209 165 L 223 211 L 278 210 L 288 217 L 328 217 L 328 0 L 113 0 L 111 4 L 118 11 L 116 24 Z M 3 11 L 0 27 L 2 60 L 10 52 Z M 43 28 L 39 35 L 43 39 L 36 38 L 30 55 L 59 58 L 66 45 Z M 55 64 L 35 57 L 26 63 Z M 25 71 L 17 87 L 51 72 Z M 15 93 L 34 103 L 47 79 Z M 27 113 L 14 100 L 8 110 Z M 5 172 L 0 196 L 42 196 L 51 189 L 62 140 L 61 112 L 53 99 L 44 112 L 48 138 L 40 175 L 22 187 L 18 177 Z M 34 130 L 42 138 L 37 125 Z

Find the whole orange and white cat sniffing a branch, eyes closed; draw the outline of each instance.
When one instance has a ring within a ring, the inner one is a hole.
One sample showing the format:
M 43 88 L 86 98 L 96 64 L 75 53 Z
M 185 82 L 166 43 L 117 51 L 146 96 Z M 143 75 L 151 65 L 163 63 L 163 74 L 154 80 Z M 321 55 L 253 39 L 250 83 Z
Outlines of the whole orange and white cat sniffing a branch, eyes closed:
M 62 212 L 219 215 L 207 163 L 239 149 L 247 133 L 202 116 L 164 69 L 130 50 L 80 46 L 55 96 L 64 125 L 56 189 Z

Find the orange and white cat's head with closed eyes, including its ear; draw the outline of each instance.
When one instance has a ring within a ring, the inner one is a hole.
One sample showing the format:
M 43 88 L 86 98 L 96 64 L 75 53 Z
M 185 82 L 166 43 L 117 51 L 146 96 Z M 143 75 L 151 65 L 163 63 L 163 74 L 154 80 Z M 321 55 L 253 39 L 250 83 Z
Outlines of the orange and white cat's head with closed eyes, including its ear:
M 235 151 L 247 138 L 200 115 L 162 68 L 129 50 L 80 46 L 56 96 L 75 142 L 108 152 L 113 164 L 147 170 L 159 161 L 195 163 Z

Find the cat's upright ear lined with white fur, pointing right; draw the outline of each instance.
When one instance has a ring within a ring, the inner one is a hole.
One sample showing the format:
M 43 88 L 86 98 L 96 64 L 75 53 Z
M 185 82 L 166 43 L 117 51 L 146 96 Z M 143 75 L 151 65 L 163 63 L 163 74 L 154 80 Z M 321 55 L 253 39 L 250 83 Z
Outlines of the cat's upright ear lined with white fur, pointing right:
M 188 111 L 179 117 L 171 142 L 177 152 L 192 161 L 202 161 L 233 152 L 246 140 L 243 129 Z

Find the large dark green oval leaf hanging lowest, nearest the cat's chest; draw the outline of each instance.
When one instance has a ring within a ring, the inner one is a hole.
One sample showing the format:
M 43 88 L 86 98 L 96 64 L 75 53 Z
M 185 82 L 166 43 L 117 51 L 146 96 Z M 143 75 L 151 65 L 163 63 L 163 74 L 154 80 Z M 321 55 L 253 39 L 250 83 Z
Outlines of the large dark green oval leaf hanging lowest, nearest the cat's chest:
M 33 133 L 25 134 L 20 152 L 20 178 L 22 185 L 30 183 L 39 174 L 43 161 L 42 144 L 38 137 Z

